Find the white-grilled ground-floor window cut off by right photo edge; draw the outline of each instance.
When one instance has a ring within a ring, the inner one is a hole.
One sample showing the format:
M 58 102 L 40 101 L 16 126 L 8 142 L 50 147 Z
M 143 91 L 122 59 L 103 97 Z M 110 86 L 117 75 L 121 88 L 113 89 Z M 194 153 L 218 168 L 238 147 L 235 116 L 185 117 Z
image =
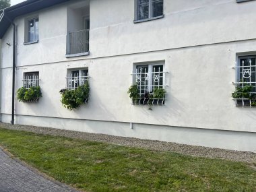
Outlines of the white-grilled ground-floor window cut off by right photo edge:
M 256 55 L 238 57 L 236 90 L 232 97 L 236 106 L 256 106 Z

